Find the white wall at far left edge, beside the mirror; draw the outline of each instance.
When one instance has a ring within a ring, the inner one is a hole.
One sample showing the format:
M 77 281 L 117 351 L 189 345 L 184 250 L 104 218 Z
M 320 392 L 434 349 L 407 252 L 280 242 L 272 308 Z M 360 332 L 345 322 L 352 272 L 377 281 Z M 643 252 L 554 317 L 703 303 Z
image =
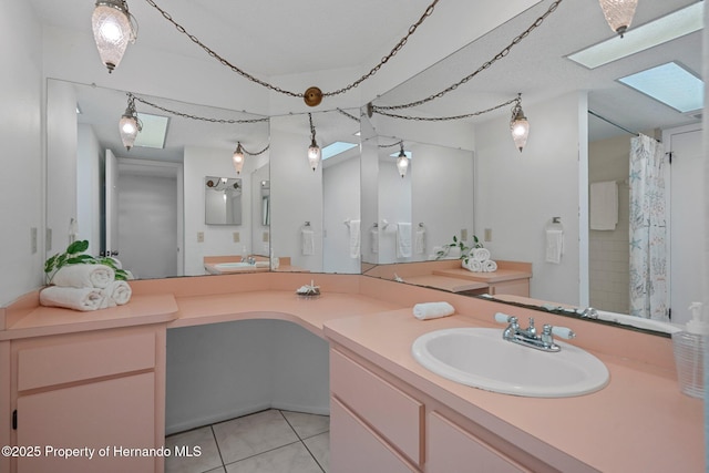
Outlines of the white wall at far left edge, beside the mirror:
M 29 2 L 0 0 L 0 306 L 43 284 L 42 30 Z M 69 223 L 68 223 L 69 224 Z M 30 245 L 38 232 L 38 249 Z

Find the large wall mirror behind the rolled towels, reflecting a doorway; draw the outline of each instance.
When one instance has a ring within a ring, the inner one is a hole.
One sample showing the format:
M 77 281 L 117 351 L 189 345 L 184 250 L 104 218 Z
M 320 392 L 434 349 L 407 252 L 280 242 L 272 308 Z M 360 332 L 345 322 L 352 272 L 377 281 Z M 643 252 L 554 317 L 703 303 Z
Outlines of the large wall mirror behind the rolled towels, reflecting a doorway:
M 268 119 L 131 92 L 143 131 L 129 151 L 119 136 L 126 91 L 48 80 L 49 253 L 70 237 L 89 239 L 89 251 L 115 255 L 136 278 L 203 275 L 205 257 L 267 257 Z M 144 143 L 154 117 L 164 119 L 164 134 Z M 238 175 L 237 143 L 246 151 Z M 216 220 L 212 194 L 224 210 Z

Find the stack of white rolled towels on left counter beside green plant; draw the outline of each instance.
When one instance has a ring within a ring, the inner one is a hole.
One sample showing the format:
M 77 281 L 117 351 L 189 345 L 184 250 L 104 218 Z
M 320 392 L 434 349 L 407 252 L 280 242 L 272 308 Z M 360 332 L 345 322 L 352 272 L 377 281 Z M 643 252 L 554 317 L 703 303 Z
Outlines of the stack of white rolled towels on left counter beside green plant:
M 52 278 L 52 286 L 40 291 L 40 304 L 74 310 L 96 310 L 127 304 L 132 296 L 126 281 L 115 280 L 105 265 L 68 265 Z

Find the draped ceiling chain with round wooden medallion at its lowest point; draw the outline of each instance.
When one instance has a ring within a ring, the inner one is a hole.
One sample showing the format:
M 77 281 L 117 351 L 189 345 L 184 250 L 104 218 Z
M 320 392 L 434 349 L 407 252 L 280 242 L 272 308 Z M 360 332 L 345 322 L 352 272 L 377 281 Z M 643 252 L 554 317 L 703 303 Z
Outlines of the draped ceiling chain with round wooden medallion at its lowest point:
M 374 65 L 367 74 L 362 75 L 357 81 L 352 82 L 351 84 L 349 84 L 349 85 L 347 85 L 345 88 L 338 89 L 338 90 L 332 91 L 332 92 L 320 92 L 320 90 L 317 89 L 317 88 L 310 88 L 305 93 L 302 93 L 302 92 L 298 93 L 298 92 L 287 91 L 285 89 L 281 89 L 281 88 L 277 86 L 277 85 L 274 85 L 274 84 L 270 84 L 270 83 L 268 83 L 266 81 L 263 81 L 263 80 L 249 74 L 248 72 L 239 69 L 238 66 L 232 64 L 228 60 L 226 60 L 222 55 L 219 55 L 216 51 L 214 51 L 213 49 L 210 49 L 209 47 L 204 44 L 197 37 L 195 37 L 192 33 L 188 33 L 187 30 L 185 29 L 185 27 L 183 27 L 182 24 L 177 23 L 173 19 L 173 17 L 169 13 L 167 13 L 165 10 L 160 8 L 157 6 L 157 3 L 155 3 L 154 0 L 145 0 L 145 1 L 148 4 L 151 4 L 153 8 L 155 8 L 157 11 L 160 11 L 162 13 L 163 18 L 165 18 L 167 21 L 173 23 L 175 25 L 175 28 L 177 29 L 177 31 L 179 31 L 181 33 L 187 35 L 187 38 L 189 38 L 189 40 L 192 40 L 192 42 L 194 42 L 199 48 L 202 48 L 204 51 L 206 51 L 207 54 L 209 54 L 212 58 L 214 58 L 217 61 L 219 61 L 223 65 L 226 65 L 227 68 L 229 68 L 233 72 L 236 72 L 237 74 L 240 74 L 242 76 L 248 79 L 251 82 L 255 82 L 255 83 L 257 83 L 259 85 L 263 85 L 263 86 L 265 86 L 267 89 L 270 89 L 271 91 L 275 91 L 275 92 L 278 92 L 278 93 L 281 93 L 281 94 L 285 94 L 285 95 L 289 95 L 289 96 L 292 96 L 292 97 L 305 99 L 306 103 L 308 105 L 311 105 L 311 106 L 318 105 L 320 103 L 320 100 L 322 100 L 323 96 L 333 96 L 333 95 L 342 94 L 345 92 L 349 92 L 350 90 L 354 89 L 356 86 L 358 86 L 359 84 L 364 82 L 367 79 L 369 79 L 372 75 L 374 75 L 381 69 L 382 65 L 384 65 L 387 62 L 389 62 L 389 60 L 391 58 L 393 58 L 404 47 L 404 44 L 407 44 L 407 42 L 409 41 L 409 38 L 417 31 L 417 29 L 421 25 L 421 23 L 423 23 L 423 21 L 433 13 L 433 9 L 435 8 L 435 4 L 439 2 L 439 0 L 433 0 L 433 2 L 425 9 L 423 14 L 419 19 L 419 21 L 417 21 L 411 27 L 409 27 L 409 32 L 401 40 L 399 40 L 397 45 L 393 47 L 393 49 L 389 52 L 389 54 L 383 56 L 381 59 L 381 61 L 379 61 L 379 64 Z M 316 95 L 316 96 L 314 97 L 312 95 Z M 317 103 L 315 103 L 315 102 L 317 102 Z

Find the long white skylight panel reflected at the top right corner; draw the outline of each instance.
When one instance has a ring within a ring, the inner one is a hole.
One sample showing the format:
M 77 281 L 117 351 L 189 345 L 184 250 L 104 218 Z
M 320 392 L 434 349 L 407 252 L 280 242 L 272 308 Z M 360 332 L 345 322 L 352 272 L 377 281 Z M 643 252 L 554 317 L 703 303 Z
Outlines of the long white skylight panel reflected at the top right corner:
M 623 38 L 613 38 L 567 58 L 588 69 L 645 51 L 658 44 L 684 37 L 703 28 L 703 1 L 698 1 L 674 13 L 629 29 Z

